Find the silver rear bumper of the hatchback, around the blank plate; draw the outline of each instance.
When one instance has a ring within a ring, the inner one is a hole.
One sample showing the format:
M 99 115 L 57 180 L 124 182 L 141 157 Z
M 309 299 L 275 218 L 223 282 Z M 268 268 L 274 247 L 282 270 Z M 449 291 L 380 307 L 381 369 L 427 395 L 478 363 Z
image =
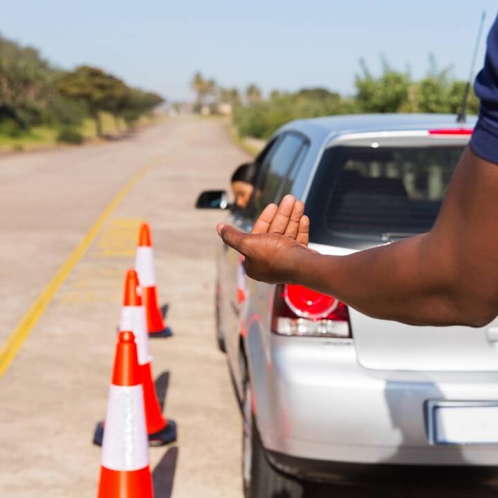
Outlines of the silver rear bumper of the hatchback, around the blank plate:
M 248 338 L 251 379 L 258 429 L 270 454 L 383 465 L 498 465 L 498 445 L 431 445 L 426 409 L 427 400 L 498 400 L 497 372 L 372 371 L 358 365 L 353 343 L 271 335 L 264 347 L 258 336 Z M 255 354 L 255 348 L 263 350 Z

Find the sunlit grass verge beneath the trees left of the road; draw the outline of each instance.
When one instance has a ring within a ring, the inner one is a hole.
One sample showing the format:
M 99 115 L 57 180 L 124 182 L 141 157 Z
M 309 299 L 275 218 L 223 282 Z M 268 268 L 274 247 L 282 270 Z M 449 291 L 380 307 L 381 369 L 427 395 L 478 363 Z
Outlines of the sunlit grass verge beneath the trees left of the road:
M 151 122 L 156 122 L 160 117 L 152 116 L 151 118 L 142 117 L 136 123 L 137 127 L 143 126 L 144 124 L 149 124 Z M 117 135 L 118 133 L 126 129 L 124 121 L 120 120 L 120 129 L 116 129 L 116 124 L 114 122 L 113 116 L 107 113 L 102 113 L 101 115 L 102 131 L 104 135 Z M 78 130 L 82 133 L 82 136 L 86 140 L 97 139 L 97 129 L 95 127 L 95 121 L 91 119 L 86 119 L 82 122 L 80 129 Z M 0 134 L 0 151 L 29 151 L 33 149 L 43 149 L 45 147 L 55 147 L 59 145 L 57 142 L 57 129 L 51 127 L 33 127 L 25 133 L 17 137 L 10 137 Z

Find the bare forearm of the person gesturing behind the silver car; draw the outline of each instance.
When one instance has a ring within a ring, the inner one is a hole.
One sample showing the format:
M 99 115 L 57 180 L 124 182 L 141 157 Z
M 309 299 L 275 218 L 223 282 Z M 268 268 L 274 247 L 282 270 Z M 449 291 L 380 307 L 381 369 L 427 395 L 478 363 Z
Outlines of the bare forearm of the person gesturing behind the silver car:
M 409 324 L 461 322 L 451 258 L 431 234 L 349 256 L 310 254 L 296 280 L 367 315 Z

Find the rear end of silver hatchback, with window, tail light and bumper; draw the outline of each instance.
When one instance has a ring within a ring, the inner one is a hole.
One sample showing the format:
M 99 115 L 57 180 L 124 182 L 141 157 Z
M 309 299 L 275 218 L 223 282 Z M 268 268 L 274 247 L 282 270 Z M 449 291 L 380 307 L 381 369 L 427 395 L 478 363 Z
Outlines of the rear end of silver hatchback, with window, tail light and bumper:
M 432 121 L 331 134 L 305 196 L 311 248 L 346 255 L 430 230 L 471 132 Z M 408 326 L 269 288 L 255 406 L 277 467 L 330 478 L 330 462 L 498 465 L 497 322 Z

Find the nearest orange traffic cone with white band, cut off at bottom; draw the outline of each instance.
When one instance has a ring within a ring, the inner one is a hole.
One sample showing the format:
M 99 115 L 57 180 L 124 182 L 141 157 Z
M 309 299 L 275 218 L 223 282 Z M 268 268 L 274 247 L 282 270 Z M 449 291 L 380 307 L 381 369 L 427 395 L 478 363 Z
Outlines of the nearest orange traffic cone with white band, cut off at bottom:
M 98 498 L 153 498 L 137 347 L 132 332 L 121 332 L 100 460 Z

